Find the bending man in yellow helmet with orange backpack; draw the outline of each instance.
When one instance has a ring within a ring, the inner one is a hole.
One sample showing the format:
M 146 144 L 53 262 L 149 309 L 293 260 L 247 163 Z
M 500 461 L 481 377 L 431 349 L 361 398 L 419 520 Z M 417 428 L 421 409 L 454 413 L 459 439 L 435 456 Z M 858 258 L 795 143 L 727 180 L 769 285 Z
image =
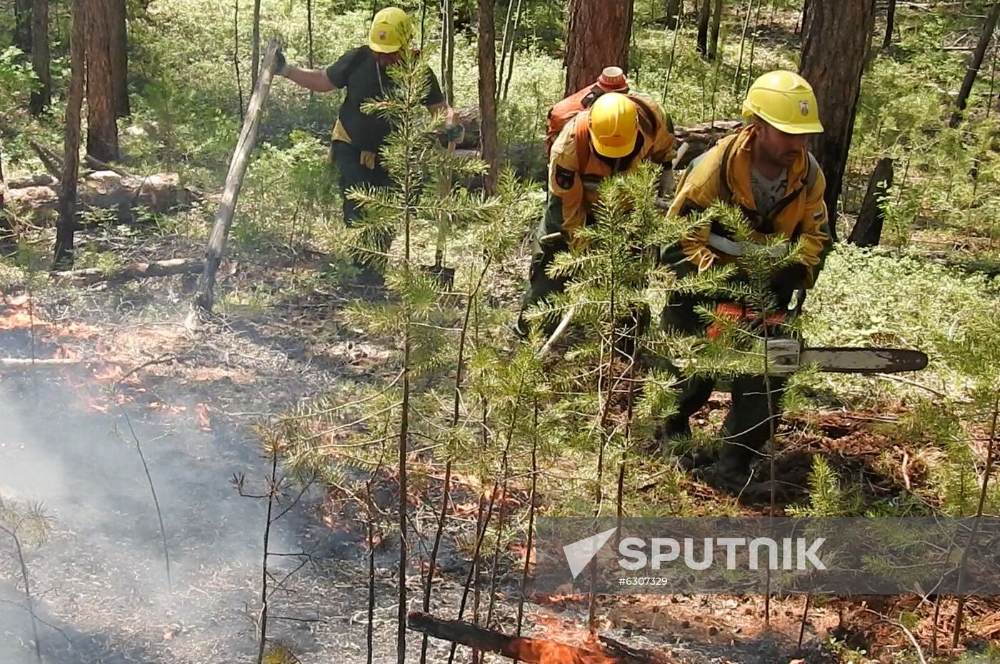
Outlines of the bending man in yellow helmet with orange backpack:
M 548 205 L 533 246 L 516 334 L 529 333 L 524 317 L 528 307 L 565 287 L 565 281 L 550 277 L 547 269 L 560 251 L 581 248 L 574 236 L 590 218 L 601 181 L 643 160 L 669 164 L 674 155 L 673 124 L 645 96 L 605 93 L 563 126 L 549 158 Z M 553 323 L 549 321 L 550 329 Z

